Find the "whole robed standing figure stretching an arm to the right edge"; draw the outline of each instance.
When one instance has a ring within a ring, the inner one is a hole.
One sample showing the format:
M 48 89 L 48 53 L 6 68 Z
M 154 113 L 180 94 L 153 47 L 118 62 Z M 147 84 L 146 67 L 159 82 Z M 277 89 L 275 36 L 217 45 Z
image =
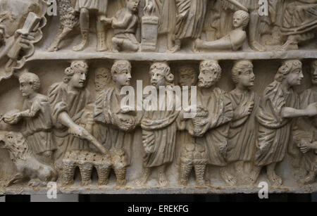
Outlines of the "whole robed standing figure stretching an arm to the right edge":
M 289 147 L 294 118 L 317 115 L 317 103 L 311 103 L 299 109 L 299 96 L 294 87 L 302 83 L 304 75 L 302 63 L 288 60 L 282 63 L 275 76 L 275 81 L 266 87 L 256 120 L 259 122 L 259 138 L 256 142 L 254 181 L 262 167 L 271 184 L 279 186 L 282 178 L 275 172 L 275 167 L 285 158 Z

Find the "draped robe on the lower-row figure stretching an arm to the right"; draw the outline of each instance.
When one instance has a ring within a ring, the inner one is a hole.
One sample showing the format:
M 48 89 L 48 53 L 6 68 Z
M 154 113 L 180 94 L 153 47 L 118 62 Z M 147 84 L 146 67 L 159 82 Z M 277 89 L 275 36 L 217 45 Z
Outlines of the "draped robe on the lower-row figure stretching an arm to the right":
M 259 138 L 256 149 L 256 165 L 278 163 L 285 157 L 290 136 L 292 119 L 281 116 L 282 108 L 298 108 L 299 96 L 290 89 L 282 91 L 280 82 L 270 84 L 261 100 L 256 120 L 259 122 Z

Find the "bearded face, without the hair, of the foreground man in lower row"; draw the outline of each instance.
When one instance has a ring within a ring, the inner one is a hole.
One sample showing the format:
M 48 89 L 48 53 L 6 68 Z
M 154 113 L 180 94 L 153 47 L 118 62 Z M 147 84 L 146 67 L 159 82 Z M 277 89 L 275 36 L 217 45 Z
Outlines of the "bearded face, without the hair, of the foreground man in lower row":
M 200 88 L 212 87 L 218 80 L 218 71 L 214 67 L 201 68 L 198 80 L 198 86 Z

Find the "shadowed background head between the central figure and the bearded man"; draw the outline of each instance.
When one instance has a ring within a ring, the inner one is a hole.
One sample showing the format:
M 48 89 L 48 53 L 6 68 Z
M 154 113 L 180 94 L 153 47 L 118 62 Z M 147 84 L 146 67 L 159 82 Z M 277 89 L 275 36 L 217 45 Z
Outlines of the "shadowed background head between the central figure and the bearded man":
M 181 87 L 192 87 L 197 84 L 198 75 L 197 71 L 190 65 L 184 65 L 178 70 L 180 75 L 179 84 Z

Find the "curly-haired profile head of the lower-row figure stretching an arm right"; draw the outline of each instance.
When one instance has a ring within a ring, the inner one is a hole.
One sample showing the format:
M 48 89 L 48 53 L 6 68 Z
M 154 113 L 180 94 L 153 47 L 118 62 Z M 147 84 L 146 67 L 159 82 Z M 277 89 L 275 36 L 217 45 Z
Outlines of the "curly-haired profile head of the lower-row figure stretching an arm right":
M 287 82 L 290 86 L 297 86 L 302 83 L 304 78 L 302 62 L 299 60 L 287 60 L 282 63 L 275 75 L 278 82 Z

